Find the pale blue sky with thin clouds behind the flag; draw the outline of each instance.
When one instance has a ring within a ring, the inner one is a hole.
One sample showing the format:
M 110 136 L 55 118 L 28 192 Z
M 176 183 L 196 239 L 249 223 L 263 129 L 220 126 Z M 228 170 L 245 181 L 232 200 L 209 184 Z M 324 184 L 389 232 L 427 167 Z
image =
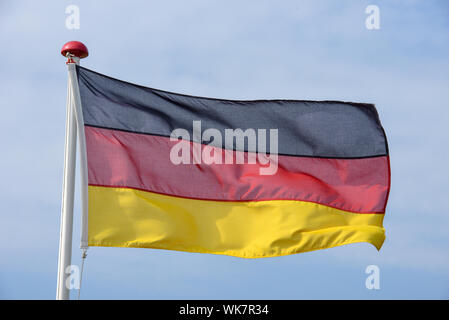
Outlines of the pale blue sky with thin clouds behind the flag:
M 68 29 L 66 7 L 80 10 Z M 380 29 L 368 30 L 368 5 Z M 82 299 L 448 299 L 449 3 L 436 1 L 0 2 L 0 299 L 54 299 L 67 68 L 228 99 L 374 103 L 392 184 L 367 243 L 241 259 L 90 248 Z M 79 168 L 79 166 L 78 166 Z M 79 177 L 72 263 L 80 265 Z M 365 286 L 369 265 L 380 289 Z M 72 298 L 77 297 L 73 290 Z

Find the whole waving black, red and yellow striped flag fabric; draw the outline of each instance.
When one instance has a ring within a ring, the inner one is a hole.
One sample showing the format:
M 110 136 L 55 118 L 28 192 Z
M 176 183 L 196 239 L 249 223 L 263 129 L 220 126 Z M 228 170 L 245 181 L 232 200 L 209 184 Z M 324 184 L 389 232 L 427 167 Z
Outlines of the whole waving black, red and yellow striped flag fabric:
M 212 99 L 77 75 L 89 246 L 243 258 L 381 248 L 390 166 L 374 105 Z

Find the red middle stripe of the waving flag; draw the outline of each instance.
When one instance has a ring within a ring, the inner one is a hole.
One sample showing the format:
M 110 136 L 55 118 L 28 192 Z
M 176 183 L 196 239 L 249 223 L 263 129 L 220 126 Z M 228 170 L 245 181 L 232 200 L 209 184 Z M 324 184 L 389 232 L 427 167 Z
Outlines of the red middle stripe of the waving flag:
M 94 127 L 86 127 L 85 132 L 91 185 L 193 199 L 301 200 L 357 213 L 385 212 L 388 157 L 279 156 L 276 174 L 264 176 L 259 174 L 263 165 L 247 163 L 248 153 L 244 153 L 245 164 L 175 165 L 170 161 L 170 150 L 178 142 L 169 138 Z M 193 143 L 183 143 L 193 150 Z M 234 157 L 238 153 L 220 148 L 214 151 Z

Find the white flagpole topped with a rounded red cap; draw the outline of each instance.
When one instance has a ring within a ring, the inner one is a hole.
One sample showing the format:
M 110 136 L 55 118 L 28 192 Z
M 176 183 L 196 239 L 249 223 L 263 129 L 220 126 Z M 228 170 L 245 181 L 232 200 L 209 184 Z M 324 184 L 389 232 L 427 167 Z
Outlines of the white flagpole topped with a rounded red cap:
M 68 300 L 70 299 L 70 287 L 68 286 L 67 280 L 70 276 L 70 268 L 68 269 L 68 267 L 71 265 L 72 258 L 73 205 L 76 169 L 77 117 L 75 103 L 79 102 L 79 92 L 76 92 L 78 94 L 78 96 L 76 96 L 73 90 L 75 85 L 74 79 L 76 79 L 76 70 L 74 66 L 75 64 L 79 64 L 80 59 L 87 57 L 88 51 L 86 46 L 81 42 L 71 41 L 62 47 L 61 54 L 68 58 L 68 81 L 56 299 Z M 76 89 L 78 89 L 78 86 L 76 86 Z M 84 137 L 84 134 L 82 136 Z M 84 158 L 85 151 L 82 150 L 81 152 L 84 153 L 84 156 L 82 157 Z M 83 166 L 84 165 L 82 164 L 82 167 Z M 82 176 L 84 176 L 84 174 L 82 174 Z M 82 180 L 84 180 L 84 178 Z M 84 184 L 84 181 L 82 181 L 82 183 Z M 83 201 L 83 207 L 85 202 L 87 203 L 87 200 Z

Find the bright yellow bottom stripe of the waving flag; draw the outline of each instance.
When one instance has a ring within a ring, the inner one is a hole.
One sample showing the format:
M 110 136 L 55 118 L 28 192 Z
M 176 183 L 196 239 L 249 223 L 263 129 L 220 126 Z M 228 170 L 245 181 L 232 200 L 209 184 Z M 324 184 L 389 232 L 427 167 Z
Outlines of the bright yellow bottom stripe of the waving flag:
M 89 186 L 89 245 L 281 256 L 385 240 L 383 214 L 358 214 L 289 200 L 194 200 Z

